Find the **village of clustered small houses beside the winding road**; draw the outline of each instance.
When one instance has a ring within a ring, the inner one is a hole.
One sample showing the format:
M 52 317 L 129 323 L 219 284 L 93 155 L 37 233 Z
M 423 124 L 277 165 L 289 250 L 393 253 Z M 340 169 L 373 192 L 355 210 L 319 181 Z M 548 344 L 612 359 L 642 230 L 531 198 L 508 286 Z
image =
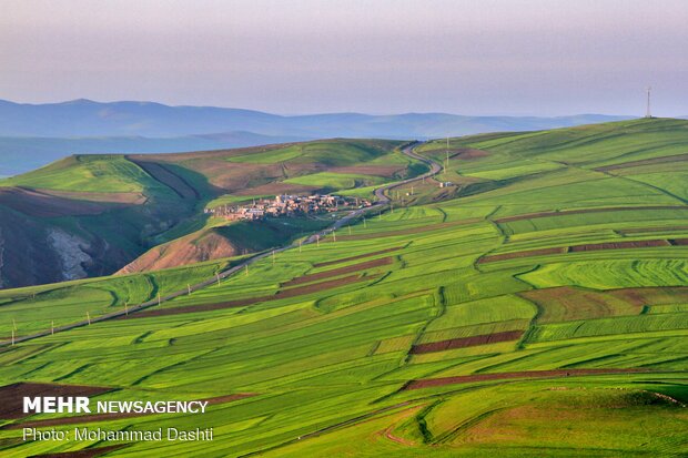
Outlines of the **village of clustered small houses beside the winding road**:
M 263 220 L 265 217 L 296 216 L 313 213 L 336 212 L 343 208 L 363 208 L 371 202 L 358 197 L 341 197 L 337 195 L 276 195 L 274 200 L 253 200 L 247 205 L 222 205 L 205 208 L 205 213 L 226 220 Z

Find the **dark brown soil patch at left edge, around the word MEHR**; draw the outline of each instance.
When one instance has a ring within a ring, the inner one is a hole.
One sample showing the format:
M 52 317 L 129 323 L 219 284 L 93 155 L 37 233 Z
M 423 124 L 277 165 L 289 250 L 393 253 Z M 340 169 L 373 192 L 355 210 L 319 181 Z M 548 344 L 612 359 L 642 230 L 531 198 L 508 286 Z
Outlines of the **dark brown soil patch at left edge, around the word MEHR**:
M 0 418 L 12 420 L 27 417 L 23 413 L 23 397 L 36 396 L 95 396 L 111 388 L 84 385 L 57 385 L 18 383 L 0 387 Z

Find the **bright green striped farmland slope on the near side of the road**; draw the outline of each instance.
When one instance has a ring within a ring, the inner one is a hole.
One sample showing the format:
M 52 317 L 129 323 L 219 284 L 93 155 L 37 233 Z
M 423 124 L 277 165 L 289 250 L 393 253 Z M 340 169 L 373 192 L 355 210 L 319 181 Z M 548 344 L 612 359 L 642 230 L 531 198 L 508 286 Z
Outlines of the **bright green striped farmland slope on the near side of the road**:
M 687 126 L 453 139 L 451 192 L 434 180 L 391 190 L 394 210 L 336 241 L 0 353 L 0 385 L 223 397 L 208 414 L 6 419 L 0 450 L 104 446 L 22 442 L 17 429 L 90 425 L 215 428 L 212 442 L 127 444 L 113 457 L 685 456 L 688 206 L 658 176 L 681 181 Z M 446 155 L 442 142 L 421 151 Z M 0 335 L 28 306 L 36 318 L 19 335 L 77 315 L 91 287 L 54 285 L 45 301 L 44 289 L 3 292 Z

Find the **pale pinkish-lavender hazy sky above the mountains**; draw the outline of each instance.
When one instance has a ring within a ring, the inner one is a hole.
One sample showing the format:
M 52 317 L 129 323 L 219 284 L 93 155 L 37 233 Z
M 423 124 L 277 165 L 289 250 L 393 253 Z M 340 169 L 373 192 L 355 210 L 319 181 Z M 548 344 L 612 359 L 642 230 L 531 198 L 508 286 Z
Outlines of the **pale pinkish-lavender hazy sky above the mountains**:
M 688 114 L 688 1 L 1 0 L 0 99 Z

